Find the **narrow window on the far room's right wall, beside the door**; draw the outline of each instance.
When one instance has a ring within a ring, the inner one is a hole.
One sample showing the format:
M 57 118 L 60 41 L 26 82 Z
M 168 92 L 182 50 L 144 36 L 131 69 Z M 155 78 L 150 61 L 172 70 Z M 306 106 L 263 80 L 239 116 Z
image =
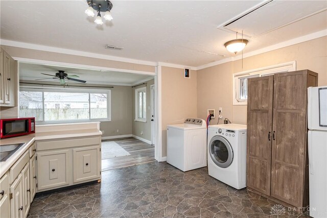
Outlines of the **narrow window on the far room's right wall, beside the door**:
M 146 87 L 135 89 L 135 121 L 147 122 Z

